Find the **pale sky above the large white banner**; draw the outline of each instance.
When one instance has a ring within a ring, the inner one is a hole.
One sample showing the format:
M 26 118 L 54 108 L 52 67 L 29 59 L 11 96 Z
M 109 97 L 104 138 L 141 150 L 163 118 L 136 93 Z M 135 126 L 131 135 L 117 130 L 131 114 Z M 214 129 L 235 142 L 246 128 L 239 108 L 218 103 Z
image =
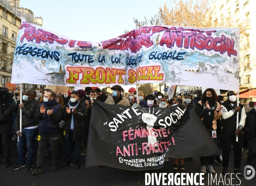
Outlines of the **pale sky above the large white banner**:
M 133 17 L 143 20 L 173 0 L 20 0 L 20 6 L 43 17 L 43 26 L 70 39 L 100 42 L 135 29 Z M 128 91 L 130 87 L 123 87 Z

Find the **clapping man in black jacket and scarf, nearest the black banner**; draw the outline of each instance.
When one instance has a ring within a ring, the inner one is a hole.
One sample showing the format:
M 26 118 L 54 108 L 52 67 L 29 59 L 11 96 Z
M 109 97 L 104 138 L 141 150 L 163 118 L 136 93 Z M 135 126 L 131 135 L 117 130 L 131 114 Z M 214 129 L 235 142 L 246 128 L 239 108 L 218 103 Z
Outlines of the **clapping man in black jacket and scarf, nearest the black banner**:
M 66 139 L 66 157 L 65 162 L 61 167 L 66 167 L 71 163 L 72 142 L 75 145 L 74 153 L 74 168 L 79 169 L 79 154 L 81 146 L 81 138 L 84 137 L 84 120 L 87 117 L 87 108 L 80 102 L 79 93 L 71 92 L 70 101 L 64 108 L 66 113 L 63 116 L 63 121 L 66 121 L 64 126 L 64 138 Z

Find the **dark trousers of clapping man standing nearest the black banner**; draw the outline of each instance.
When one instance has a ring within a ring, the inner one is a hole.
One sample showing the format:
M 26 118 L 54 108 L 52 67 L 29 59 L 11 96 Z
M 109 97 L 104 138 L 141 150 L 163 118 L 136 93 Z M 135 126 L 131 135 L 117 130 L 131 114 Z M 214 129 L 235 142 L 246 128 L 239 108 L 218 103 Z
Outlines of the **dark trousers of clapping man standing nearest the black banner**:
M 71 160 L 73 137 L 74 137 L 74 131 L 70 130 L 68 134 L 68 138 L 66 139 L 66 160 Z M 81 139 L 75 139 L 74 143 L 75 143 L 74 144 L 75 145 L 74 161 L 79 161 Z

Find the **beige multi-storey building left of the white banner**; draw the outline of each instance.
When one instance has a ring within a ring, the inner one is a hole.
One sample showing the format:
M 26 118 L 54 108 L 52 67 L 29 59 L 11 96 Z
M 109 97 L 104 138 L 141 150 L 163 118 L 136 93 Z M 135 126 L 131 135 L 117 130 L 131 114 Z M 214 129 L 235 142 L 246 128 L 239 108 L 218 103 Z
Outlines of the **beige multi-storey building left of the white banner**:
M 28 23 L 43 25 L 42 17 L 34 17 L 30 9 L 20 6 L 19 0 L 0 0 L 0 87 L 12 89 L 12 63 L 21 17 Z M 26 84 L 27 90 L 36 90 L 39 85 Z M 40 86 L 39 86 L 40 88 Z

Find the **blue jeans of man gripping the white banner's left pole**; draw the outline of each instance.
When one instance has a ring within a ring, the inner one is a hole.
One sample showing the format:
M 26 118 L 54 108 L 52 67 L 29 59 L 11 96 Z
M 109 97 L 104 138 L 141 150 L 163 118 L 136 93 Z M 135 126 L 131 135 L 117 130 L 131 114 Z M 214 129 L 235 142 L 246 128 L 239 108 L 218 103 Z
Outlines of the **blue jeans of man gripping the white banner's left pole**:
M 26 144 L 28 148 L 28 159 L 27 162 L 33 162 L 35 157 L 35 131 L 34 129 L 22 129 L 22 137 L 19 137 L 19 140 L 17 142 L 17 148 L 18 148 L 18 154 L 19 154 L 19 163 L 24 164 L 25 163 L 25 157 L 26 157 Z

